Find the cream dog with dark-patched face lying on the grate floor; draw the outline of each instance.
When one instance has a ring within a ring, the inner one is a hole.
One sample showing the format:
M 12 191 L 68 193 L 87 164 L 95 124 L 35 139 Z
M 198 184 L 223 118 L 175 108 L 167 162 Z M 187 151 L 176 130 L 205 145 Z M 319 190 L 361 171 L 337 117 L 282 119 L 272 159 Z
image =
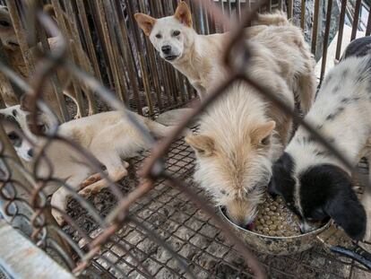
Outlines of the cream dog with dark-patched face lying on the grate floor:
M 172 128 L 160 125 L 134 112 L 129 113 L 155 136 L 165 136 Z M 27 113 L 18 105 L 0 109 L 0 117 L 21 127 L 23 133 L 30 138 L 31 143 L 17 135 L 13 125 L 5 124 L 5 131 L 19 156 L 24 161 L 32 161 L 45 143 L 45 139 L 30 134 Z M 59 126 L 57 134 L 89 151 L 107 169 L 108 178 L 112 181 L 118 181 L 127 174 L 126 168 L 129 164 L 122 159 L 134 157 L 139 151 L 150 147 L 129 120 L 117 111 L 102 112 L 66 122 Z M 46 149 L 46 156 L 52 163 L 53 177 L 64 180 L 66 184 L 78 191 L 79 195 L 89 196 L 108 187 L 108 181 L 101 179 L 98 174 L 94 174 L 95 171 L 86 164 L 86 160 L 76 153 L 70 145 L 53 141 Z M 46 176 L 48 170 L 44 159 L 38 168 L 38 175 Z M 65 211 L 67 197 L 70 196 L 69 191 L 65 187 L 57 189 L 56 185 L 48 185 L 45 190 L 47 194 L 54 193 L 51 205 Z M 62 214 L 56 210 L 53 210 L 52 214 L 55 216 L 56 222 L 64 223 Z

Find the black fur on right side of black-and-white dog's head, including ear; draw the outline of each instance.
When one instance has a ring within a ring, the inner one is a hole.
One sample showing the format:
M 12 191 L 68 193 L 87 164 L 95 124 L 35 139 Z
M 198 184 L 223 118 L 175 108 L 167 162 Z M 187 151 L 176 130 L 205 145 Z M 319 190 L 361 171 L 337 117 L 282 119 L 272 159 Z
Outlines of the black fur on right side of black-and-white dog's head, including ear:
M 364 237 L 367 217 L 351 188 L 349 175 L 331 164 L 317 165 L 299 176 L 300 205 L 305 219 L 329 216 L 354 240 Z

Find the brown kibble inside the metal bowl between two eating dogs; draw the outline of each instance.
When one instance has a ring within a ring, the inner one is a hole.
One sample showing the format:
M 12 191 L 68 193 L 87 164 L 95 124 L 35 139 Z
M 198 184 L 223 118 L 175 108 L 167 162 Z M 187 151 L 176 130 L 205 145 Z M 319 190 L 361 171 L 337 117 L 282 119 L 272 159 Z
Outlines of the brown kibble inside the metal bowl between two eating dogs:
M 280 196 L 273 199 L 267 194 L 258 210 L 255 221 L 248 226 L 250 231 L 276 237 L 290 237 L 301 233 L 298 216 L 286 207 Z

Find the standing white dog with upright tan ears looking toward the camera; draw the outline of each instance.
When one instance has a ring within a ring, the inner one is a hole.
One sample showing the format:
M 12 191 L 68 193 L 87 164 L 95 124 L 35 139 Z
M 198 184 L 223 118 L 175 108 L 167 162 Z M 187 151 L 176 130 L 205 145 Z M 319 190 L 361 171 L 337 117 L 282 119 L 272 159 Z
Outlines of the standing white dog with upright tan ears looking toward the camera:
M 215 80 L 225 76 L 221 54 L 225 43 L 229 40 L 229 32 L 212 35 L 197 34 L 192 27 L 192 14 L 186 2 L 179 2 L 174 15 L 154 19 L 147 14 L 135 13 L 135 20 L 144 34 L 149 37 L 153 47 L 160 53 L 160 57 L 185 74 L 201 98 L 210 90 Z M 296 29 L 297 33 L 300 33 L 299 29 L 289 24 L 285 14 L 267 13 L 259 14 L 255 26 L 246 28 L 246 34 L 254 38 L 263 32 L 267 46 L 271 48 L 275 48 L 280 43 L 290 45 L 296 42 L 300 45 L 304 41 L 299 36 L 287 36 L 285 34 L 287 29 Z M 271 34 L 274 34 L 272 39 L 270 39 Z M 310 59 L 310 51 L 301 47 L 297 48 L 298 50 L 301 51 L 299 63 L 303 62 L 304 57 L 305 64 L 300 71 L 296 72 L 294 80 L 289 81 L 289 86 L 297 92 L 300 107 L 306 113 L 314 100 L 314 66 Z M 283 60 L 281 62 L 284 63 Z M 294 77 L 291 73 L 287 74 Z

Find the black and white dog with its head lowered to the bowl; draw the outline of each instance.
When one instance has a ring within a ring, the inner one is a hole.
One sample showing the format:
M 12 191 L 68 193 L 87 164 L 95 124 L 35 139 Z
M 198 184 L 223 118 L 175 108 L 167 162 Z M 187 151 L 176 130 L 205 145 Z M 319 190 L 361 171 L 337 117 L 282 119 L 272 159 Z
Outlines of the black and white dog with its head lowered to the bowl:
M 370 157 L 371 38 L 356 39 L 341 62 L 327 74 L 315 104 L 306 115 L 329 143 L 346 154 L 354 166 Z M 272 170 L 269 191 L 280 195 L 301 218 L 303 232 L 312 221 L 330 217 L 354 240 L 368 238 L 370 202 L 358 200 L 351 173 L 341 161 L 300 126 Z M 368 198 L 370 200 L 370 198 Z M 365 211 L 366 209 L 366 211 Z

